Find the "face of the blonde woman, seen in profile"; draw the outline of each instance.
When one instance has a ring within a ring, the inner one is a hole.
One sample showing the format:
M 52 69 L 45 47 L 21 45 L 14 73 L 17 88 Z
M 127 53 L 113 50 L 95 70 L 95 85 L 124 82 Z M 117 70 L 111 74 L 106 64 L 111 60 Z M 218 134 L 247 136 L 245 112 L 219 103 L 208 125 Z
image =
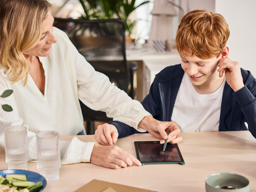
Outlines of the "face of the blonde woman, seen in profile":
M 52 43 L 57 42 L 57 39 L 53 34 L 53 22 L 54 18 L 52 17 L 51 12 L 48 12 L 47 18 L 43 21 L 43 34 L 40 41 L 32 49 L 23 52 L 25 57 L 29 57 L 30 55 L 46 57 L 50 54 Z

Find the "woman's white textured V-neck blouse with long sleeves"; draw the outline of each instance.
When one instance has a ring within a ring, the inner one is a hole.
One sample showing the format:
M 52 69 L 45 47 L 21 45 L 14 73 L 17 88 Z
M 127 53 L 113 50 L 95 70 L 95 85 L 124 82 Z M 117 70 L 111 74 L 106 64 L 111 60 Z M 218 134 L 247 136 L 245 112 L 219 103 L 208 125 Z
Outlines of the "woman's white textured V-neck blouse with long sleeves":
M 44 95 L 31 76 L 25 86 L 11 83 L 0 69 L 0 94 L 13 90 L 0 104 L 9 104 L 13 111 L 0 108 L 0 146 L 4 149 L 4 128 L 10 125 L 28 127 L 30 160 L 36 160 L 35 134 L 54 130 L 60 135 L 77 135 L 84 129 L 79 99 L 94 110 L 105 111 L 113 120 L 124 122 L 138 131 L 138 123 L 150 115 L 139 101 L 109 82 L 107 76 L 96 72 L 78 53 L 68 36 L 54 28 L 57 43 L 47 57 L 39 57 L 45 75 Z M 95 143 L 85 143 L 76 137 L 71 142 L 61 141 L 62 164 L 90 162 Z

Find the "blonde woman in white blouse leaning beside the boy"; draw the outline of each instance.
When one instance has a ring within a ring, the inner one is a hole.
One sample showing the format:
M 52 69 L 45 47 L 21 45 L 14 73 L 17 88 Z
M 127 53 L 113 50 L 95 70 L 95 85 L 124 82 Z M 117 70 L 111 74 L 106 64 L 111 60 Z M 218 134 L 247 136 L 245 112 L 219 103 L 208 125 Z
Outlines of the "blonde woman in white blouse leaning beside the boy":
M 0 113 L 0 145 L 4 149 L 5 127 L 25 125 L 30 160 L 36 159 L 37 132 L 55 130 L 60 135 L 77 135 L 84 130 L 79 99 L 136 129 L 152 118 L 138 101 L 96 72 L 67 35 L 53 27 L 53 21 L 47 0 L 0 2 L 0 93 L 14 91 L 4 100 L 0 97 L 0 104 L 13 107 L 11 112 Z M 146 128 L 145 124 L 141 127 Z M 161 134 L 167 137 L 166 128 L 162 126 Z M 178 128 L 175 133 L 179 133 Z M 76 137 L 71 142 L 61 141 L 61 160 L 62 164 L 92 162 L 110 168 L 141 165 L 116 146 L 96 147 Z

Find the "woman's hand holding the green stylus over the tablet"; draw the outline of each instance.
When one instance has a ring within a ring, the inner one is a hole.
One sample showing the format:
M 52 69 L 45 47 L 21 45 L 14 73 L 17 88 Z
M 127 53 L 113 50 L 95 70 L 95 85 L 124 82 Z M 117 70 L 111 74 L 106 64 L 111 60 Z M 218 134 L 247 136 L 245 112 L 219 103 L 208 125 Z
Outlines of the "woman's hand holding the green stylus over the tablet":
M 180 133 L 179 126 L 174 121 L 158 121 L 152 116 L 144 117 L 139 125 L 139 127 L 147 130 L 151 135 L 162 139 L 160 143 L 164 143 L 164 140 L 168 138 L 168 142 L 178 143 L 182 141 L 182 137 L 177 135 Z M 170 130 L 167 136 L 167 130 Z

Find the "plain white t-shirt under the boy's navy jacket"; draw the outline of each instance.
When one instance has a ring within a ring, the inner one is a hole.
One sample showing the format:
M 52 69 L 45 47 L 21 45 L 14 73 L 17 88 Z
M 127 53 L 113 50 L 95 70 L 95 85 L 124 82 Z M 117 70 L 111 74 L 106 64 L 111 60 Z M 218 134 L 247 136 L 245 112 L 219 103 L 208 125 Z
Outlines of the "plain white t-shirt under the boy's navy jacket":
M 184 73 L 171 117 L 181 132 L 219 130 L 224 85 L 225 79 L 216 92 L 201 95 Z

